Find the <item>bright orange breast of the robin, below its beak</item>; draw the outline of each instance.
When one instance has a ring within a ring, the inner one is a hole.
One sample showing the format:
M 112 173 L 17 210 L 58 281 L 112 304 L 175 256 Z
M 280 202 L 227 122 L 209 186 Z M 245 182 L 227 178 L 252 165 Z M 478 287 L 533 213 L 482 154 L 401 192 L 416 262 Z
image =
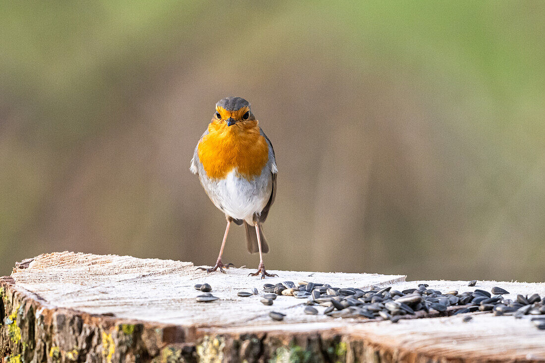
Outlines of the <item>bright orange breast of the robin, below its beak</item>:
M 213 120 L 208 132 L 199 142 L 198 155 L 209 178 L 224 179 L 234 168 L 246 179 L 261 175 L 269 160 L 269 146 L 257 121 L 227 126 Z

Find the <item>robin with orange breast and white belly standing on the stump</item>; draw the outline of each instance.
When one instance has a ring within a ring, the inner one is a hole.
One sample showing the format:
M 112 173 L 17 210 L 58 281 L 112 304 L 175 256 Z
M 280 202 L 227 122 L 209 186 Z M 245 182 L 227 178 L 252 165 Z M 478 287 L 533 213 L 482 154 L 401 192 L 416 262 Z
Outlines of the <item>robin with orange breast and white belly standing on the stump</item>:
M 272 144 L 253 116 L 250 103 L 240 97 L 227 97 L 216 104 L 208 130 L 199 140 L 191 172 L 197 174 L 214 205 L 225 213 L 227 227 L 220 255 L 207 273 L 220 269 L 223 247 L 231 223 L 246 228 L 248 252 L 259 252 L 259 266 L 249 276 L 277 276 L 265 271 L 262 253 L 269 252 L 261 224 L 267 219 L 276 195 L 276 160 Z

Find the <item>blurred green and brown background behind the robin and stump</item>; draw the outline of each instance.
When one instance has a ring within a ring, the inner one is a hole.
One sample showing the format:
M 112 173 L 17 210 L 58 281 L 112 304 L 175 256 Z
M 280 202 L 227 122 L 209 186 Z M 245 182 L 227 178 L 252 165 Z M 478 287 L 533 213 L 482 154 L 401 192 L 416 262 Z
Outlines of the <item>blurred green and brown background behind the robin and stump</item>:
M 3 3 L 0 274 L 214 263 L 189 171 L 217 100 L 269 136 L 268 269 L 543 281 L 545 3 Z M 224 262 L 256 268 L 243 228 Z

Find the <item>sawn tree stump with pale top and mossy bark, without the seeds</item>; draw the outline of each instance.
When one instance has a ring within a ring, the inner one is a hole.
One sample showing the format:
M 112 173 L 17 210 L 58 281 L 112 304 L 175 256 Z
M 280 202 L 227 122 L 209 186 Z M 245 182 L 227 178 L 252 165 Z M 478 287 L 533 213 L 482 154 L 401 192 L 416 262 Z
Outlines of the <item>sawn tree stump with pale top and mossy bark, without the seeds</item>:
M 420 282 L 441 291 L 545 294 L 544 283 L 405 281 L 401 275 L 253 270 L 207 275 L 190 262 L 60 252 L 16 265 L 0 281 L 0 353 L 30 361 L 545 361 L 545 331 L 530 319 L 472 314 L 400 320 L 331 318 L 303 313 L 306 299 L 261 304 L 263 283 L 311 281 L 399 291 Z M 193 285 L 220 299 L 203 303 Z M 257 288 L 259 295 L 238 297 Z M 281 322 L 270 311 L 286 314 Z

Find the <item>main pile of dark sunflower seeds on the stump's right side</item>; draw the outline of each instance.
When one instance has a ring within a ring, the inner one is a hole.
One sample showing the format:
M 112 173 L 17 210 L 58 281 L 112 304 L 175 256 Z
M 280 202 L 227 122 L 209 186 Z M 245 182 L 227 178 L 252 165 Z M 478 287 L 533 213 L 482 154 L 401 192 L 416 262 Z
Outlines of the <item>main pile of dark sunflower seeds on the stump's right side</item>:
M 412 317 L 445 316 L 475 311 L 490 311 L 495 315 L 513 315 L 521 318 L 524 315 L 545 314 L 545 298 L 538 294 L 530 296 L 517 295 L 517 299 L 505 299 L 509 294 L 503 288 L 493 287 L 490 292 L 475 289 L 474 291 L 441 292 L 425 283 L 416 288 L 403 291 L 392 290 L 392 287 L 373 287 L 370 291 L 358 288 L 338 288 L 326 283 L 283 281 L 272 285 L 263 285 L 263 304 L 272 305 L 273 295 L 293 296 L 306 299 L 306 314 L 317 314 L 312 305 L 324 306 L 324 314 L 334 318 L 365 317 L 369 319 L 390 320 Z M 468 320 L 469 321 L 469 320 Z M 545 318 L 533 320 L 538 329 L 545 329 Z

